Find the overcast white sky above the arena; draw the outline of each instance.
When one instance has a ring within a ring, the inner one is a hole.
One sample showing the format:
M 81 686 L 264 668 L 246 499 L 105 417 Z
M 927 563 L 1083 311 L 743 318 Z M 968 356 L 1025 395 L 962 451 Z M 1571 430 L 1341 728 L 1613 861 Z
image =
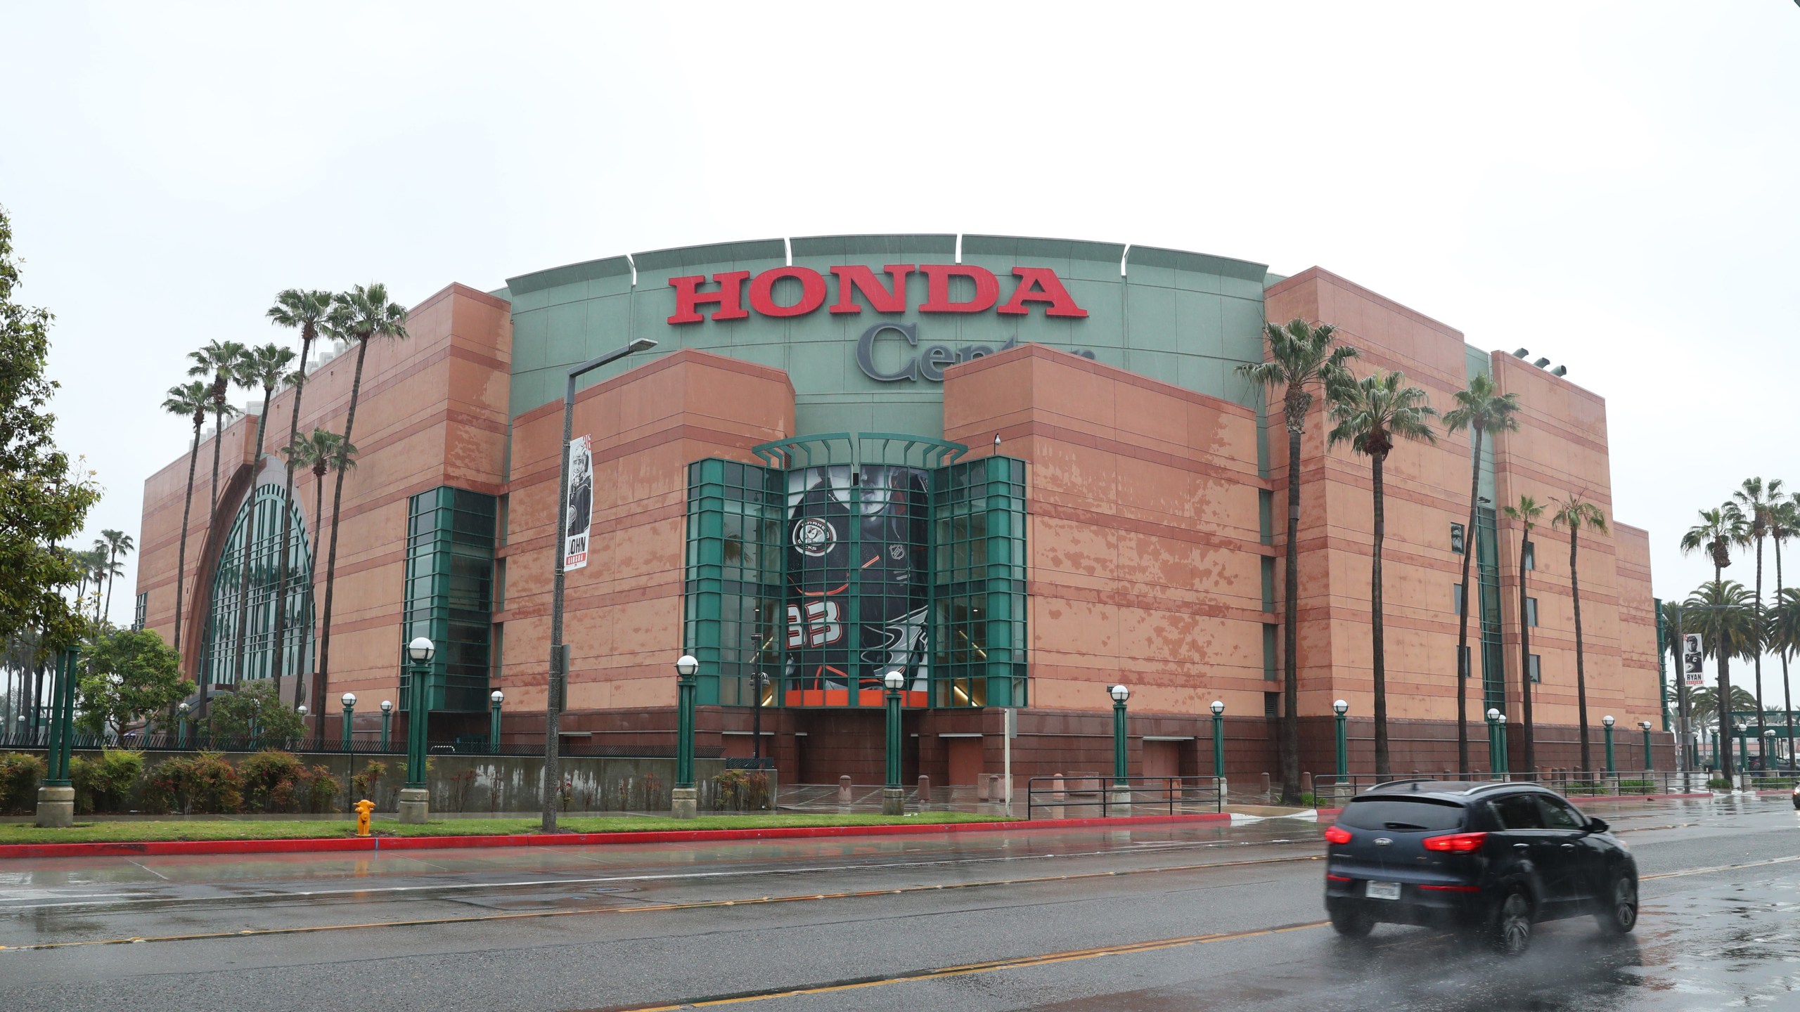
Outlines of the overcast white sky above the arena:
M 1607 398 L 1665 598 L 1710 578 L 1697 508 L 1800 488 L 1793 0 L 0 0 L 0 203 L 108 490 L 83 544 L 185 448 L 182 355 L 283 339 L 279 288 L 886 230 L 1321 265 L 1548 355 Z

